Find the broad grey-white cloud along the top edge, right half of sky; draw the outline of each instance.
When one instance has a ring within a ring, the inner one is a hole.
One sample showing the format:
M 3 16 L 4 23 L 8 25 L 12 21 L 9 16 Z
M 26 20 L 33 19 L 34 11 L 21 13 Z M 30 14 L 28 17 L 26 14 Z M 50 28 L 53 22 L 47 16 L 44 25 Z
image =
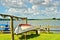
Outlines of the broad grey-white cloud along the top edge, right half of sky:
M 60 2 L 54 1 L 53 0 L 30 0 L 30 2 L 33 5 L 37 5 L 37 6 L 46 6 L 46 7 L 50 7 L 50 6 L 58 6 L 60 4 Z

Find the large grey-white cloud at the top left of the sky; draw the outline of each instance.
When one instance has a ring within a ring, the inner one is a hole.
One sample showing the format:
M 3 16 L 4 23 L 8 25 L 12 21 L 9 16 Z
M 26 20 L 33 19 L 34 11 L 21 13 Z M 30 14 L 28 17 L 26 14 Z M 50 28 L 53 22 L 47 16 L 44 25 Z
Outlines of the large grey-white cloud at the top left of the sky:
M 27 8 L 23 0 L 1 0 L 1 3 L 11 8 Z

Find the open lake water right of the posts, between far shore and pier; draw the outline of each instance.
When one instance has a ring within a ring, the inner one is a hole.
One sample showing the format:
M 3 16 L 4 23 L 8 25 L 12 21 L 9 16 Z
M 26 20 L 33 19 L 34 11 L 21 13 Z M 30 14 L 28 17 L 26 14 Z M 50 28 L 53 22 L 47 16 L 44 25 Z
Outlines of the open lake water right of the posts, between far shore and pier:
M 40 25 L 60 26 L 60 20 L 29 20 L 28 23 L 31 25 L 38 25 L 38 26 Z

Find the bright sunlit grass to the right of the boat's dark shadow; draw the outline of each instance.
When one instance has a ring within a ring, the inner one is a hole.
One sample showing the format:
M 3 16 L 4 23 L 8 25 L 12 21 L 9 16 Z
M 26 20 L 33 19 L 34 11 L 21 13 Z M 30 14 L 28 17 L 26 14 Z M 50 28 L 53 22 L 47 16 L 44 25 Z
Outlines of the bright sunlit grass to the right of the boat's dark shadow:
M 60 34 L 41 34 L 29 40 L 60 40 Z

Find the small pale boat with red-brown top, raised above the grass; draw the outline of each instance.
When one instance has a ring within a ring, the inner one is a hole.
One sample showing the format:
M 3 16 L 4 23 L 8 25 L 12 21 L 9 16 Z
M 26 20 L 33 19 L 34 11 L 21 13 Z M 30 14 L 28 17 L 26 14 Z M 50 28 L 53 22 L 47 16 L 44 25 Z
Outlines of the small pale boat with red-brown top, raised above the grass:
M 20 34 L 20 33 L 25 33 L 25 32 L 28 32 L 28 31 L 33 31 L 33 30 L 38 30 L 40 27 L 35 27 L 35 26 L 32 26 L 30 24 L 19 24 L 14 33 L 16 34 Z

